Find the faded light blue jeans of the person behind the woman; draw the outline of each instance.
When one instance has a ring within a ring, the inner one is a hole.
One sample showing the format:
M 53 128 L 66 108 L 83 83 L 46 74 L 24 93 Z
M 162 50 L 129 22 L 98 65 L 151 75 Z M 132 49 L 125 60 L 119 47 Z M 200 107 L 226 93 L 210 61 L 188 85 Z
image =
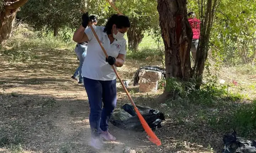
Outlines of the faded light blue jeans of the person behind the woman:
M 78 56 L 78 60 L 79 60 L 79 66 L 78 68 L 75 70 L 75 73 L 73 74 L 74 77 L 79 76 L 79 82 L 82 83 L 83 78 L 81 75 L 82 72 L 82 66 L 84 64 L 84 59 L 86 56 L 86 51 L 87 51 L 87 45 L 81 45 L 81 44 L 77 44 L 75 47 L 75 53 Z

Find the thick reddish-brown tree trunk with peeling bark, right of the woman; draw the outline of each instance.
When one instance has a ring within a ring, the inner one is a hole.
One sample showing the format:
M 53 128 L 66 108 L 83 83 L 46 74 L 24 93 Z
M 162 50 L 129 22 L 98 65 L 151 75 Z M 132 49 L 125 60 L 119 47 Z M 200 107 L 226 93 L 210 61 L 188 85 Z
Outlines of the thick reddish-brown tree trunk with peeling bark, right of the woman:
M 166 78 L 191 78 L 192 30 L 186 0 L 158 0 L 159 21 L 165 46 Z

